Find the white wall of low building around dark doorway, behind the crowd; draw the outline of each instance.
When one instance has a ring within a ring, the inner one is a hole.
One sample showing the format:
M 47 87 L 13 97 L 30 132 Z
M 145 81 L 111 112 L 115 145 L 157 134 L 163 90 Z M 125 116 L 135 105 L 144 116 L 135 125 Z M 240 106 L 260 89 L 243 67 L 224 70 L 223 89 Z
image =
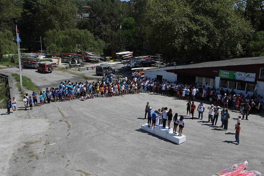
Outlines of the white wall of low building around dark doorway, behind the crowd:
M 162 79 L 167 79 L 169 82 L 175 82 L 177 80 L 177 74 L 166 71 L 145 71 L 144 78 L 157 78 L 157 75 L 162 75 Z

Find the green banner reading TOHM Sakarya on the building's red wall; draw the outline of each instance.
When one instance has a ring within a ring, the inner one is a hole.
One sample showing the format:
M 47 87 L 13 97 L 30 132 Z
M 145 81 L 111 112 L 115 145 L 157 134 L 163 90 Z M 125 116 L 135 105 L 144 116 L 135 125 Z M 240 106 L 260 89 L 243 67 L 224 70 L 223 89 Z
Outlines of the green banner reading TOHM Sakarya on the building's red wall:
M 244 72 L 219 70 L 218 76 L 227 79 L 255 82 L 256 73 L 244 73 Z

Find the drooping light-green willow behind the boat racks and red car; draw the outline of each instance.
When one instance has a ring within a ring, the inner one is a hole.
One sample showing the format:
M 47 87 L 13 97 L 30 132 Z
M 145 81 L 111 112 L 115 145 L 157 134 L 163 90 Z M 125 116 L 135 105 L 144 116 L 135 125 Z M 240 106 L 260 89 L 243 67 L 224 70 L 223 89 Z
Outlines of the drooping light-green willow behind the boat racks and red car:
M 95 37 L 88 30 L 69 29 L 65 31 L 50 30 L 45 33 L 44 43 L 48 53 L 60 52 L 69 53 L 86 50 L 102 53 L 103 41 L 95 40 Z

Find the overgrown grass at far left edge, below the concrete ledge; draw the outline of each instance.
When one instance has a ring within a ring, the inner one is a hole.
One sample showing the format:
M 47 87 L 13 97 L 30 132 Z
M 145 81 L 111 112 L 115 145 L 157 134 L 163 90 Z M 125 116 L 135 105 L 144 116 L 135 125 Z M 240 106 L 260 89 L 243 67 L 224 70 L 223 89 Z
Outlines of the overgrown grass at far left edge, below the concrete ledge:
M 6 102 L 8 99 L 10 99 L 10 91 L 9 91 L 10 87 L 8 85 L 7 79 L 5 79 L 5 78 L 0 79 L 0 86 L 1 86 L 0 87 L 0 92 L 1 92 L 0 93 L 0 100 L 2 100 L 2 101 L 0 101 L 1 102 L 0 107 L 5 109 L 7 107 Z M 11 101 L 10 101 L 10 103 L 11 103 Z M 10 104 L 10 107 L 11 107 L 11 104 Z

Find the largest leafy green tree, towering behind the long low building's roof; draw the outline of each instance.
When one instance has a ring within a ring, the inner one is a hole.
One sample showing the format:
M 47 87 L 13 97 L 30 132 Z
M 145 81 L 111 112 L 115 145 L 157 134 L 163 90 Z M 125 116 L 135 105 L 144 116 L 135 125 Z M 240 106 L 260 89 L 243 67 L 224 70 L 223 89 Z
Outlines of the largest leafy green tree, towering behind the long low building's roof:
M 233 6 L 232 0 L 150 0 L 152 51 L 178 64 L 239 57 L 253 30 Z

